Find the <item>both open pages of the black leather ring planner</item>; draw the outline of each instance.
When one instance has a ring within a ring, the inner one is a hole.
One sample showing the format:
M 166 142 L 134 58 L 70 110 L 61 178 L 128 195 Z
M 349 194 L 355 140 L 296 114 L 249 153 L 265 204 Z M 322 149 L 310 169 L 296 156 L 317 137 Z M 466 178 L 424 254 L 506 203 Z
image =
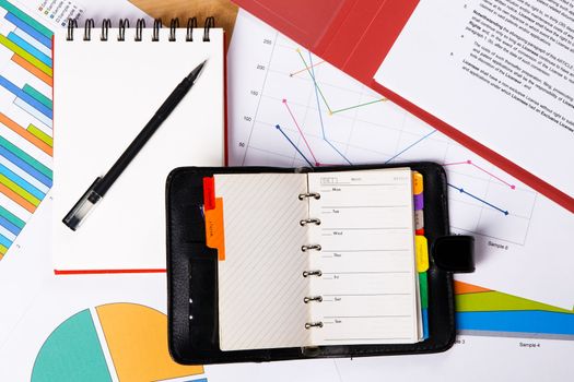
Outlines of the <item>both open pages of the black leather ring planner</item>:
M 410 169 L 214 178 L 222 350 L 419 341 Z

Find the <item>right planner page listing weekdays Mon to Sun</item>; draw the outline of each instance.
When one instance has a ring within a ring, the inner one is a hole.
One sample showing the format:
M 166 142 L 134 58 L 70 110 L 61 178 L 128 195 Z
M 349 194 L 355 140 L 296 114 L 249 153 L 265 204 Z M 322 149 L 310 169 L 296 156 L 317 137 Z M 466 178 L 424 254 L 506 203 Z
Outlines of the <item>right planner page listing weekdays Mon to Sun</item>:
M 308 175 L 308 276 L 315 345 L 419 341 L 411 171 L 408 168 Z

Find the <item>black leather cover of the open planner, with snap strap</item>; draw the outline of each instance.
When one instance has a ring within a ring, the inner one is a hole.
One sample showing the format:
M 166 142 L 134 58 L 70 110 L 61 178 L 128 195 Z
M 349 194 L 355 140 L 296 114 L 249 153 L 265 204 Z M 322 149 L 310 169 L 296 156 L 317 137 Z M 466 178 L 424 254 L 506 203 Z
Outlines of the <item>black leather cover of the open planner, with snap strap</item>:
M 218 325 L 218 253 L 206 246 L 203 178 L 213 174 L 308 172 L 410 167 L 424 177 L 424 230 L 429 240 L 429 338 L 417 344 L 341 345 L 222 351 Z M 473 271 L 472 238 L 449 237 L 447 183 L 433 163 L 321 168 L 183 167 L 166 184 L 168 341 L 180 363 L 271 361 L 320 357 L 424 354 L 448 349 L 455 341 L 453 272 Z M 441 264 L 438 266 L 437 264 Z M 190 319 L 192 318 L 192 319 Z

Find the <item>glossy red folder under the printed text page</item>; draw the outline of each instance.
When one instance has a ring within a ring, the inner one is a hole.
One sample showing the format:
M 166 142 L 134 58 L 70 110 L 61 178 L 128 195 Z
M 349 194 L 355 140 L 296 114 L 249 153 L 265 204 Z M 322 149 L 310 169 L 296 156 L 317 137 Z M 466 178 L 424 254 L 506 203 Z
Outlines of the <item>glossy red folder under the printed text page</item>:
M 373 79 L 419 0 L 233 0 L 305 48 L 574 213 L 574 198 Z

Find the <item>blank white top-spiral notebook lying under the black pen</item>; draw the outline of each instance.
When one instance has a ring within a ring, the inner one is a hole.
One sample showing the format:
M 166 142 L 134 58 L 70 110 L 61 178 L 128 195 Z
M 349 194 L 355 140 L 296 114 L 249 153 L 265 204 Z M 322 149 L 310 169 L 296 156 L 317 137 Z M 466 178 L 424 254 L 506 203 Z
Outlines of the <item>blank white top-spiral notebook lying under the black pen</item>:
M 210 19 L 210 22 L 212 20 Z M 54 43 L 54 267 L 56 273 L 164 272 L 165 179 L 183 165 L 224 164 L 223 31 L 121 21 L 70 24 Z M 148 26 L 148 27 L 145 27 Z M 186 26 L 186 22 L 181 22 Z M 174 87 L 201 77 L 82 229 L 61 219 L 104 175 Z

